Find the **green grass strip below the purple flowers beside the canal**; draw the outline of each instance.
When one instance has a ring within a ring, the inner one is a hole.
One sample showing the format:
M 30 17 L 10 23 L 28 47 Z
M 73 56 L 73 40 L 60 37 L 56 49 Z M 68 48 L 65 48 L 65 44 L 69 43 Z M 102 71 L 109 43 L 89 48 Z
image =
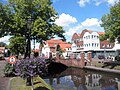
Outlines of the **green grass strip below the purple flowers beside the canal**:
M 48 85 L 42 78 L 35 77 L 34 81 L 34 89 L 42 90 L 40 88 L 44 87 L 48 90 L 54 90 L 50 85 Z M 31 86 L 26 86 L 25 80 L 20 77 L 15 77 L 11 80 L 10 90 L 32 90 Z

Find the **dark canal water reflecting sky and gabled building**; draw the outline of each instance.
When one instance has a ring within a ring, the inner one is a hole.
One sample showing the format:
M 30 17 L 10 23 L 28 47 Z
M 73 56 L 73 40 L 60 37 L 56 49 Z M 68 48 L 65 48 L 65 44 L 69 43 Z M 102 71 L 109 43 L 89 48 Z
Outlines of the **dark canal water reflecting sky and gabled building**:
M 45 79 L 45 81 L 52 85 L 55 90 L 120 90 L 118 75 L 77 68 L 68 68 L 60 74 Z

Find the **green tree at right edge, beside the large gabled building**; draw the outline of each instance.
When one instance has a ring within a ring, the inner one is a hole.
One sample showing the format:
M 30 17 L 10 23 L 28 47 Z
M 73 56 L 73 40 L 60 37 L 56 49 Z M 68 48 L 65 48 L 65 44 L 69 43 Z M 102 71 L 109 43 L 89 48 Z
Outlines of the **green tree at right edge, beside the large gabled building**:
M 120 43 L 120 1 L 110 8 L 110 13 L 103 15 L 101 26 L 105 29 L 105 35 L 102 39 L 107 39 L 114 42 L 118 39 Z

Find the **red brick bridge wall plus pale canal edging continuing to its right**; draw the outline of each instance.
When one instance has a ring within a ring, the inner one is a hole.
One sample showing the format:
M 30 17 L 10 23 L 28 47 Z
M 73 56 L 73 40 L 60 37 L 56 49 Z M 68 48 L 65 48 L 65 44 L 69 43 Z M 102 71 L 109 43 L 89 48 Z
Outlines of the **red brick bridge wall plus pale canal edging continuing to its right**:
M 60 59 L 57 56 L 56 62 L 62 63 L 68 67 L 78 67 L 82 69 L 89 69 L 89 70 L 96 70 L 96 71 L 102 71 L 102 72 L 108 72 L 108 73 L 115 73 L 115 74 L 120 74 L 120 70 L 115 70 L 115 69 L 107 69 L 107 68 L 100 68 L 100 67 L 95 67 L 91 66 L 92 62 L 92 53 L 88 52 L 87 53 L 87 58 L 85 58 L 85 53 L 81 52 L 80 53 L 80 59 L 75 59 L 72 55 L 70 56 L 70 59 L 65 60 L 65 59 Z M 85 63 L 89 63 L 90 66 L 86 66 Z

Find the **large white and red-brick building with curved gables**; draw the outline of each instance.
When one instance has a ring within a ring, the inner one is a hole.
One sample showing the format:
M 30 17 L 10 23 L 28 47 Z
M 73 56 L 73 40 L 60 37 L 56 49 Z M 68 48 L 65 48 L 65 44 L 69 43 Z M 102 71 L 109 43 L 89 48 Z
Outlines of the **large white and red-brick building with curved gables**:
M 99 55 L 116 56 L 116 51 L 120 50 L 120 44 L 110 43 L 108 40 L 100 41 L 99 36 L 104 32 L 83 30 L 80 34 L 74 33 L 72 36 L 72 52 L 92 52 L 93 57 Z M 76 51 L 75 51 L 76 50 Z

